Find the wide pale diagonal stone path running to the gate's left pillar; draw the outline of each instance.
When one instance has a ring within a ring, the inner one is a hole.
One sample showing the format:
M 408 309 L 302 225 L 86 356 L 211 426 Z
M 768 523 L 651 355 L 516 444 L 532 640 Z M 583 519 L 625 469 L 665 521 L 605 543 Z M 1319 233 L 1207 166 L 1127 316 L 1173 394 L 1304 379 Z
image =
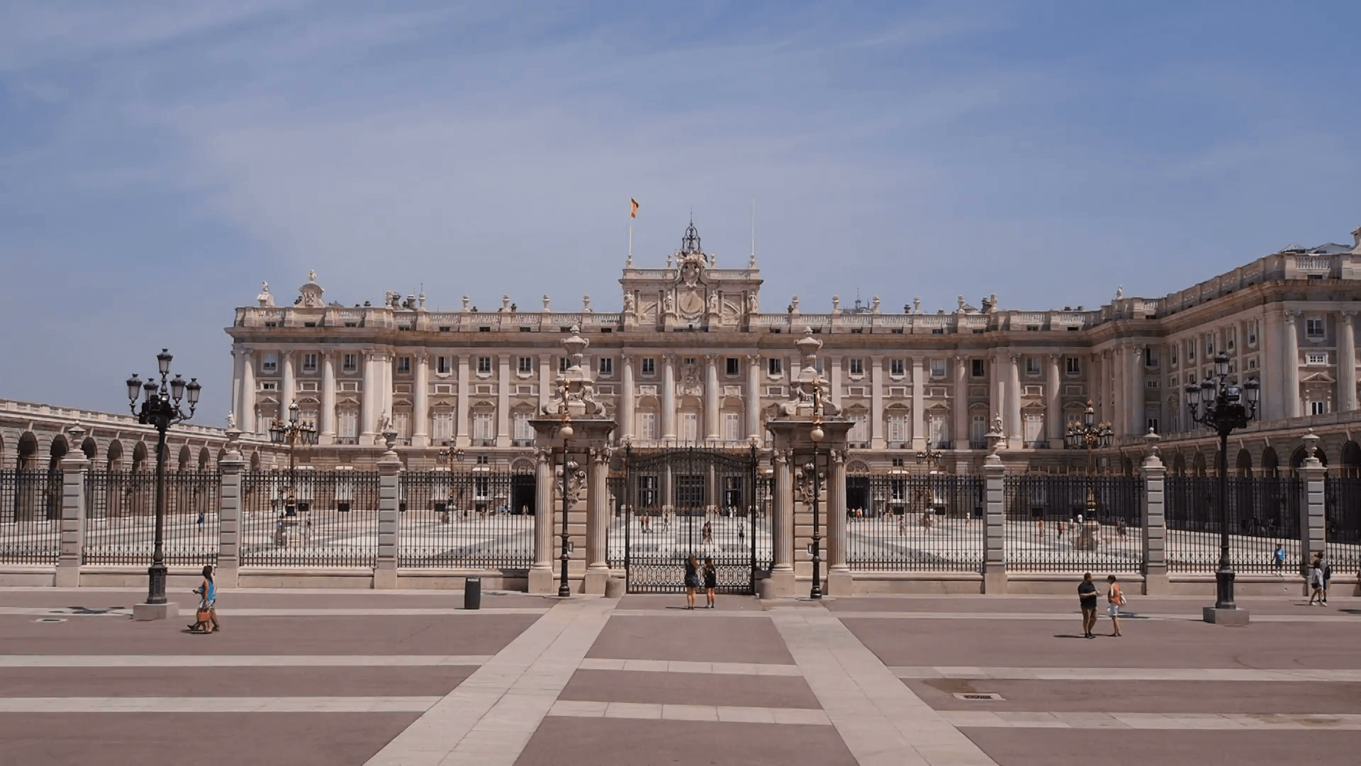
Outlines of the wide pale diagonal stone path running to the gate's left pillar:
M 600 635 L 614 604 L 557 604 L 366 766 L 512 766 Z

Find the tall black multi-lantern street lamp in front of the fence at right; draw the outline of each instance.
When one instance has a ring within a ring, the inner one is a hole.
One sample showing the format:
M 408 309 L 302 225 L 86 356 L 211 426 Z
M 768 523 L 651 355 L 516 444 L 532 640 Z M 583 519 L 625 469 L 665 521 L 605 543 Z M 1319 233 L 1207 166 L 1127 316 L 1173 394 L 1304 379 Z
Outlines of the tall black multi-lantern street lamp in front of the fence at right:
M 1234 572 L 1229 562 L 1229 433 L 1247 428 L 1258 416 L 1260 383 L 1256 378 L 1241 386 L 1229 384 L 1229 354 L 1214 356 L 1214 372 L 1199 386 L 1187 386 L 1187 408 L 1191 421 L 1213 429 L 1219 436 L 1219 570 L 1214 572 L 1215 609 L 1237 609 L 1233 602 Z M 1200 405 L 1203 412 L 1196 412 Z

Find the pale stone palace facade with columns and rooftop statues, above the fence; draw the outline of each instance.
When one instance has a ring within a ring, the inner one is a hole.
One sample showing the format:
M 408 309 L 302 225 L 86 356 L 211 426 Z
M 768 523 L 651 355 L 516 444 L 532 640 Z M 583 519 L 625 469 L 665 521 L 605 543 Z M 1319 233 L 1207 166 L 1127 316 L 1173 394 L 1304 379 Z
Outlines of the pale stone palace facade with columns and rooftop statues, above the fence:
M 1115 433 L 1102 466 L 1130 470 L 1155 431 L 1173 473 L 1200 472 L 1217 447 L 1188 418 L 1183 388 L 1224 352 L 1230 382 L 1262 384 L 1259 420 L 1234 433 L 1230 465 L 1297 465 L 1313 428 L 1323 459 L 1356 466 L 1361 228 L 1353 237 L 1288 245 L 1162 297 L 1117 290 L 1105 305 L 1062 309 L 1004 308 L 994 294 L 935 313 L 881 296 L 833 296 L 825 313 L 804 313 L 795 296 L 770 311 L 755 256 L 720 267 L 693 224 L 664 264 L 629 258 L 622 311 L 595 311 L 589 296 L 573 311 L 550 296 L 532 308 L 502 296 L 491 311 L 463 297 L 461 311 L 436 312 L 423 293 L 391 292 L 344 305 L 324 298 L 313 273 L 289 305 L 265 285 L 256 305 L 235 309 L 233 421 L 248 440 L 267 436 L 297 402 L 320 431 L 299 459 L 317 466 L 372 462 L 389 427 L 408 463 L 444 446 L 513 461 L 531 451 L 529 421 L 553 399 L 569 364 L 559 342 L 577 328 L 615 442 L 746 447 L 768 442 L 769 409 L 803 361 L 793 341 L 813 333 L 832 401 L 855 423 L 851 446 L 870 465 L 940 451 L 940 469 L 972 472 L 1000 418 L 1013 468 L 1085 466 L 1063 435 L 1090 401 Z

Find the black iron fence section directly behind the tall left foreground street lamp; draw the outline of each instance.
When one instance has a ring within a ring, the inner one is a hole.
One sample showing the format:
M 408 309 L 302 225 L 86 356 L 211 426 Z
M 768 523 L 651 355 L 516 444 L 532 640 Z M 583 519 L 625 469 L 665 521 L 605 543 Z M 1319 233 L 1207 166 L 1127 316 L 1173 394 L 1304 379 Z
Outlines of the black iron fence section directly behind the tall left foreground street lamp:
M 220 476 L 215 472 L 166 473 L 161 533 L 166 564 L 216 563 L 220 487 Z M 150 563 L 155 525 L 155 472 L 86 473 L 84 563 Z

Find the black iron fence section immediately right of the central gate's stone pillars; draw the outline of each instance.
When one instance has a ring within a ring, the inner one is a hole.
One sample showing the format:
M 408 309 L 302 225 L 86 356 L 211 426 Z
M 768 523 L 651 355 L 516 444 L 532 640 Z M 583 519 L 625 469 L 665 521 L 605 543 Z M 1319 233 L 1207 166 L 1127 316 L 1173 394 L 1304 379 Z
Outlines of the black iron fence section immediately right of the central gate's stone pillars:
M 847 563 L 853 570 L 979 571 L 983 478 L 847 477 Z

